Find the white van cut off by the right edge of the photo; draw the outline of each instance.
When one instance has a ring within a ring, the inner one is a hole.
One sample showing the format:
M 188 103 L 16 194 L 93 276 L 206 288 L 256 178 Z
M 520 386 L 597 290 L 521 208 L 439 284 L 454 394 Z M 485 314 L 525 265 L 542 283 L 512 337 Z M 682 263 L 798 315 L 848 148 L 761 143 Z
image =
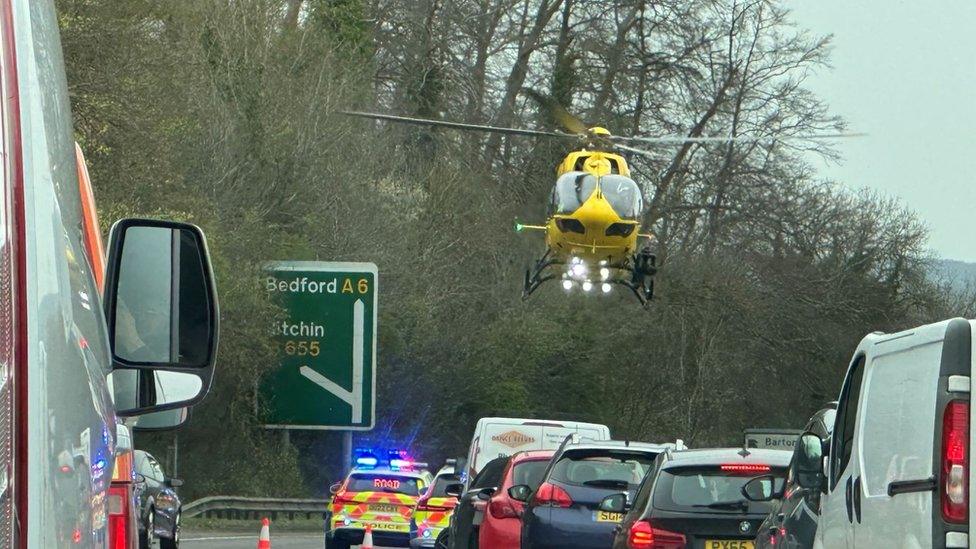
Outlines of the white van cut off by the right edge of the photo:
M 816 547 L 970 547 L 974 325 L 861 341 L 826 452 Z

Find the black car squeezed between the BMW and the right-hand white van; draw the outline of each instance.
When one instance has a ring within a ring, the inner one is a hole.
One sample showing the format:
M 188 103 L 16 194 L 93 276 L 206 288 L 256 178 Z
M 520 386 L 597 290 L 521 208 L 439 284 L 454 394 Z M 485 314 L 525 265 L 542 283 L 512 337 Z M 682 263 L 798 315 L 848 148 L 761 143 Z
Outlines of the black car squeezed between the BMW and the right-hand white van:
M 816 434 L 821 440 L 828 440 L 836 414 L 837 403 L 832 402 L 810 418 L 804 431 Z M 797 483 L 795 466 L 796 452 L 790 462 L 783 497 L 775 503 L 774 509 L 759 527 L 757 548 L 813 547 L 820 522 L 820 491 L 801 487 Z

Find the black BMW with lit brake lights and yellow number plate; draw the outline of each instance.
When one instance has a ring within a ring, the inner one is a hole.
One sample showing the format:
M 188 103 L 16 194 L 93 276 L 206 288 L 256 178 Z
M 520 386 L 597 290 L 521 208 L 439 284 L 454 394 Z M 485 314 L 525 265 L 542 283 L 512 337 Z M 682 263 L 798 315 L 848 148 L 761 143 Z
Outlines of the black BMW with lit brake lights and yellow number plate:
M 620 493 L 601 502 L 602 511 L 626 513 L 613 549 L 752 549 L 772 504 L 749 497 L 782 490 L 791 455 L 741 448 L 666 452 L 633 500 Z

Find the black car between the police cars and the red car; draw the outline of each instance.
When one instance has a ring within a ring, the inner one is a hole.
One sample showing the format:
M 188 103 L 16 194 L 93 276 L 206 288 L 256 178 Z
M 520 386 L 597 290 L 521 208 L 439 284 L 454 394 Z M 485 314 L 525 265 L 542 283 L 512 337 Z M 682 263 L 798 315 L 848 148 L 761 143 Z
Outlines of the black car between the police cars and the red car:
M 502 473 L 508 465 L 508 456 L 489 461 L 471 479 L 465 489 L 462 484 L 447 488 L 447 494 L 458 497 L 451 515 L 451 524 L 437 536 L 435 547 L 441 549 L 475 549 L 478 547 L 478 525 L 485 517 L 485 507 L 502 482 Z M 463 492 L 463 493 L 462 493 Z

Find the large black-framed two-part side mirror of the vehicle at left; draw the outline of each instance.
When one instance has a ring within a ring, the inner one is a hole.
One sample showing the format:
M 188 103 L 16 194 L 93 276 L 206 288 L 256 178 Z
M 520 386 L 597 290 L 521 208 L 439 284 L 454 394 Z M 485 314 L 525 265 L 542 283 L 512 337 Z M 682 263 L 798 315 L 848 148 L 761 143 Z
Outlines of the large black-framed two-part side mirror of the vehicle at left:
M 219 313 L 198 227 L 117 222 L 109 234 L 104 304 L 118 415 L 184 408 L 206 396 Z

